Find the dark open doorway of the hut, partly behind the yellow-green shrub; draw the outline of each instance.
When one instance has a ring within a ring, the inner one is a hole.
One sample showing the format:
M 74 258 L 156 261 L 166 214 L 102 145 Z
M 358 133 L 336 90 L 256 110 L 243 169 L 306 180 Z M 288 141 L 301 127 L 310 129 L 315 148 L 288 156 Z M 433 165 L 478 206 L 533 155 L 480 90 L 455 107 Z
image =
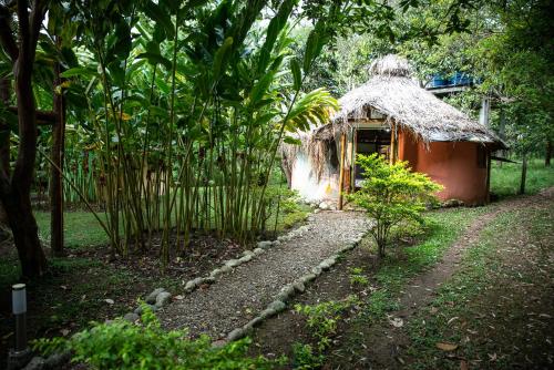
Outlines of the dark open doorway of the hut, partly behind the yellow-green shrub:
M 358 154 L 370 155 L 379 153 L 384 155 L 386 160 L 390 158 L 391 135 L 390 129 L 358 129 L 356 131 L 355 156 Z M 353 185 L 355 189 L 360 188 L 363 182 L 363 168 L 359 164 L 353 168 Z

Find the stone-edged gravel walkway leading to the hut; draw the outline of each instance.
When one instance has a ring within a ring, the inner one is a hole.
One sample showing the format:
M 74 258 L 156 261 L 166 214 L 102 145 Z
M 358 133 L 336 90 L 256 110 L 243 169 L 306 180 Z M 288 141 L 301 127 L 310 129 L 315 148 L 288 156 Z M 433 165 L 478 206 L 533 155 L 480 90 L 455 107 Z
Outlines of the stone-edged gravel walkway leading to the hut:
M 186 295 L 160 311 L 166 328 L 188 328 L 191 336 L 225 337 L 263 310 L 287 284 L 307 274 L 368 228 L 363 214 L 322 212 L 308 230 L 224 274 L 214 285 Z

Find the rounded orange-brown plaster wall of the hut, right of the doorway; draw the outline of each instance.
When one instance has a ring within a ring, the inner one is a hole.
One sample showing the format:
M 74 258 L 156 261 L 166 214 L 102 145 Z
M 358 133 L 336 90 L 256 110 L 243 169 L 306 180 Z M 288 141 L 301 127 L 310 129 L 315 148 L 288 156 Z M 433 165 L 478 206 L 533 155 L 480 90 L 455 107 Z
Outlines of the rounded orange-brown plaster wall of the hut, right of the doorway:
M 428 174 L 444 186 L 439 197 L 460 199 L 468 205 L 486 202 L 486 161 L 478 166 L 478 143 L 433 142 L 425 146 L 409 132 L 399 132 L 398 157 L 408 161 L 413 171 Z

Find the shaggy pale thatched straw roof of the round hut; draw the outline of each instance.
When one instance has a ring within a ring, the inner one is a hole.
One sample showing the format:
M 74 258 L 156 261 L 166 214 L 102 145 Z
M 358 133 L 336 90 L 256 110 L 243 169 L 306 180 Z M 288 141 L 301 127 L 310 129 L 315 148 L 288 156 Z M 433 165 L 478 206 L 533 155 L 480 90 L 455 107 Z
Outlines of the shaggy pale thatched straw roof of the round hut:
M 424 142 L 471 141 L 505 144 L 490 130 L 470 119 L 455 107 L 444 103 L 410 79 L 408 61 L 397 55 L 387 55 L 373 62 L 371 79 L 348 92 L 339 100 L 340 111 L 330 124 L 314 132 L 315 137 L 329 138 L 356 125 L 356 121 L 368 117 L 370 107 L 412 131 Z

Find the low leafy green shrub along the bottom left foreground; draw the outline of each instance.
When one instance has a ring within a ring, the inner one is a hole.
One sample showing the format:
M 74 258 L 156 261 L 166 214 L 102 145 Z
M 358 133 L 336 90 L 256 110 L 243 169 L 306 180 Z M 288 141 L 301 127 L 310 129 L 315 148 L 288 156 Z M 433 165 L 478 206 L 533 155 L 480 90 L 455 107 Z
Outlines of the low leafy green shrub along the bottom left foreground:
M 207 336 L 189 340 L 185 330 L 165 331 L 152 310 L 143 309 L 142 325 L 119 318 L 70 339 L 40 339 L 34 349 L 45 354 L 69 350 L 72 361 L 95 369 L 270 369 L 275 364 L 264 357 L 247 357 L 248 338 L 215 348 Z

